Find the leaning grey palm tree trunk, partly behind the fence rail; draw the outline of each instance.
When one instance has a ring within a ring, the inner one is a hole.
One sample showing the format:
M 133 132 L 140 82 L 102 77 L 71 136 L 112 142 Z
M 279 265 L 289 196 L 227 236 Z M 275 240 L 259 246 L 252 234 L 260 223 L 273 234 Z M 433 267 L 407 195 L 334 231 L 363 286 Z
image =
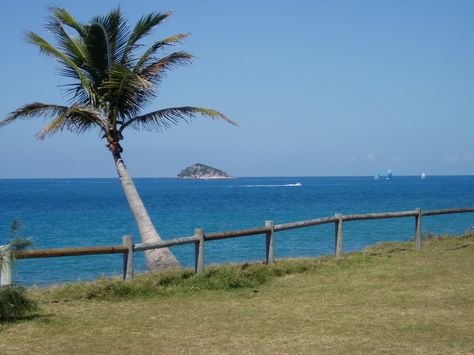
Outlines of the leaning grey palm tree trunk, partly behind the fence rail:
M 127 197 L 133 217 L 135 217 L 135 222 L 137 223 L 142 241 L 152 242 L 161 240 L 140 196 L 138 195 L 137 189 L 135 188 L 120 153 L 115 152 L 112 153 L 112 155 L 114 157 L 115 167 L 117 168 L 123 191 Z M 176 269 L 181 266 L 179 261 L 168 248 L 147 250 L 145 251 L 145 259 L 147 269 L 150 271 Z

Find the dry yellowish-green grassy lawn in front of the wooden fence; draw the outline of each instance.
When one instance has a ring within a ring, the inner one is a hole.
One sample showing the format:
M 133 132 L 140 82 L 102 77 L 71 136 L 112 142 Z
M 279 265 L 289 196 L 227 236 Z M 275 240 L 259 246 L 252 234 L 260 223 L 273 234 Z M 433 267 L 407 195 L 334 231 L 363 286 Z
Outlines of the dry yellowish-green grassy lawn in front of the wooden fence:
M 30 290 L 0 353 L 474 353 L 474 235 Z

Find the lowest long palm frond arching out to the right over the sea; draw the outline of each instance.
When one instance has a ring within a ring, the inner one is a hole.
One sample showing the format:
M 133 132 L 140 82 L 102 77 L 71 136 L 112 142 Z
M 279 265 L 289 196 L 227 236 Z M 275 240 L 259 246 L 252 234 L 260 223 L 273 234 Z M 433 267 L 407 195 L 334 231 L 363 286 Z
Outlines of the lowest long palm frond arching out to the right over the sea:
M 180 122 L 189 123 L 199 115 L 224 120 L 234 126 L 239 126 L 237 122 L 232 121 L 219 111 L 203 107 L 183 106 L 166 108 L 134 117 L 125 122 L 120 127 L 120 131 L 122 132 L 125 128 L 131 127 L 137 130 L 143 129 L 146 131 L 161 132 Z

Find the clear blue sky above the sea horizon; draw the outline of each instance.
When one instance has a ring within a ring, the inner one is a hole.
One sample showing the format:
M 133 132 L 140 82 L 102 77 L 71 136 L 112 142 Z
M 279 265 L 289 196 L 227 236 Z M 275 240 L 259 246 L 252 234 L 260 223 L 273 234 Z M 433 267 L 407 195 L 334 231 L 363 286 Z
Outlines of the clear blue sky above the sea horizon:
M 190 32 L 179 49 L 197 59 L 146 111 L 211 107 L 242 126 L 129 132 L 135 177 L 194 162 L 237 176 L 474 173 L 474 1 L 1 1 L 1 117 L 65 102 L 54 62 L 24 40 L 44 34 L 52 3 L 82 21 L 118 4 L 131 22 L 173 10 L 151 38 Z M 38 141 L 42 124 L 0 129 L 0 178 L 115 176 L 98 133 Z

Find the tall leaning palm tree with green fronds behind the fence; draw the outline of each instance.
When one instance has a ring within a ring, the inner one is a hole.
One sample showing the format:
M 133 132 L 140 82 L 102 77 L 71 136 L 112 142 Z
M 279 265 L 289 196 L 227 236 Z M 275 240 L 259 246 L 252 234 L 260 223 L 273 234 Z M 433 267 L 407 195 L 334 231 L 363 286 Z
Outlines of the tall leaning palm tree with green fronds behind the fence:
M 221 119 L 233 125 L 224 114 L 202 107 L 172 107 L 142 114 L 145 104 L 156 97 L 157 86 L 169 69 L 191 63 L 193 57 L 183 51 L 158 56 L 169 46 L 179 44 L 188 34 L 154 42 L 140 50 L 140 41 L 162 23 L 170 13 L 153 12 L 129 26 L 120 9 L 95 16 L 88 23 L 74 19 L 63 8 L 51 8 L 46 29 L 55 37 L 53 45 L 40 35 L 29 32 L 27 40 L 41 53 L 59 64 L 60 74 L 71 79 L 66 85 L 69 105 L 34 102 L 24 105 L 0 121 L 0 127 L 17 119 L 43 117 L 48 124 L 38 133 L 43 139 L 69 130 L 83 133 L 98 129 L 115 161 L 120 182 L 138 225 L 142 241 L 160 240 L 128 173 L 120 141 L 126 128 L 162 131 L 198 115 Z M 168 249 L 145 253 L 149 270 L 179 267 Z

